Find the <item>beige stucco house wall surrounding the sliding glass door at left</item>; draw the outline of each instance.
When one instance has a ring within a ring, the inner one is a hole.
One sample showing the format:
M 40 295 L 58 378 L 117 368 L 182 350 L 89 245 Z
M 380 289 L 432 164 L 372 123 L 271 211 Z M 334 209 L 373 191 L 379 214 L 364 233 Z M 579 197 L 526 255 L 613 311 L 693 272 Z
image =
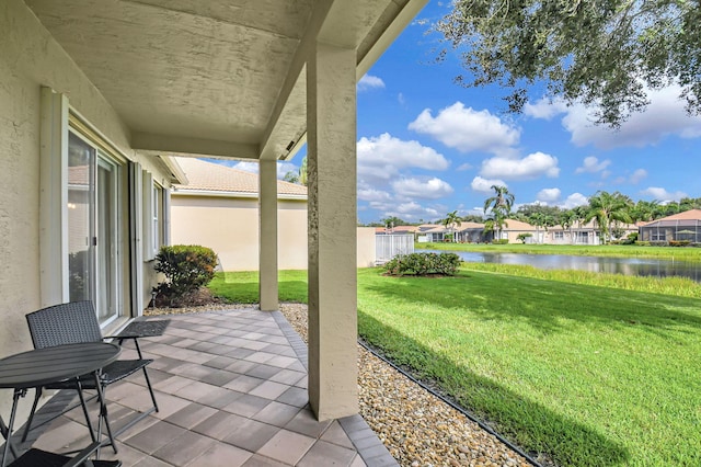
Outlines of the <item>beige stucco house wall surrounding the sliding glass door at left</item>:
M 0 1 L 0 356 L 4 356 L 32 348 L 24 316 L 41 305 L 42 87 L 68 95 L 70 105 L 124 157 L 141 162 L 159 180 L 164 174 L 129 148 L 129 132 L 115 111 L 21 0 Z M 123 255 L 128 258 L 128 252 Z M 0 391 L 2 413 L 9 409 L 9 392 Z

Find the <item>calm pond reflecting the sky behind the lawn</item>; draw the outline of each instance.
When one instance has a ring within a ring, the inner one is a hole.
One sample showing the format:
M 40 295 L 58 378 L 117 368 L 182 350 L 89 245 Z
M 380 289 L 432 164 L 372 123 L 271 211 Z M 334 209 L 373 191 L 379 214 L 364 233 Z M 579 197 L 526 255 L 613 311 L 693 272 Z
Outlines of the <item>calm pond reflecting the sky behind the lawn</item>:
M 416 250 L 433 251 L 438 250 Z M 573 257 L 566 254 L 492 253 L 449 251 L 470 263 L 527 264 L 542 270 L 579 270 L 655 277 L 681 276 L 701 283 L 701 263 L 650 258 Z

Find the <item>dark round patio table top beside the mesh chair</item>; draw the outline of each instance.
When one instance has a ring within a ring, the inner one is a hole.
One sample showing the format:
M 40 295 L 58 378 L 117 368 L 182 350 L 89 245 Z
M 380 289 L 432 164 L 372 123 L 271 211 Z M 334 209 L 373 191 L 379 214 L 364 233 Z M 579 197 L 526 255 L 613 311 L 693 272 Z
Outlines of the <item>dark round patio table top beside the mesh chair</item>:
M 118 345 L 84 342 L 35 349 L 0 360 L 0 388 L 33 388 L 94 372 L 117 360 Z

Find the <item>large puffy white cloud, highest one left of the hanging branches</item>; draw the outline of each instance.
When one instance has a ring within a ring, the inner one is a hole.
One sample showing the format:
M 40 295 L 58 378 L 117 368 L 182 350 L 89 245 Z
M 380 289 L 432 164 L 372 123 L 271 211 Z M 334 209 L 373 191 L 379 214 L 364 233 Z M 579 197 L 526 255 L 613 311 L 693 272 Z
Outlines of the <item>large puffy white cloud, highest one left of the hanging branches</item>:
M 437 139 L 461 152 L 484 151 L 507 156 L 520 138 L 520 129 L 504 124 L 487 110 L 475 111 L 462 102 L 441 109 L 434 117 L 430 109 L 424 110 L 409 129 Z

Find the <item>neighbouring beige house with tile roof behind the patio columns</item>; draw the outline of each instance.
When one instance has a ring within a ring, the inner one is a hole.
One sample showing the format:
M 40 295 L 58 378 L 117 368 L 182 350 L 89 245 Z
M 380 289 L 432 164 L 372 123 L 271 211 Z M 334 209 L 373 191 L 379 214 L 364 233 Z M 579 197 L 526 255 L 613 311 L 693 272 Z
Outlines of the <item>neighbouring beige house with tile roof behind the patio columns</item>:
M 171 240 L 202 244 L 222 271 L 258 269 L 258 175 L 205 160 L 175 158 L 187 179 L 171 191 Z M 307 269 L 307 186 L 277 181 L 278 263 Z M 375 265 L 375 230 L 358 228 L 358 266 Z

